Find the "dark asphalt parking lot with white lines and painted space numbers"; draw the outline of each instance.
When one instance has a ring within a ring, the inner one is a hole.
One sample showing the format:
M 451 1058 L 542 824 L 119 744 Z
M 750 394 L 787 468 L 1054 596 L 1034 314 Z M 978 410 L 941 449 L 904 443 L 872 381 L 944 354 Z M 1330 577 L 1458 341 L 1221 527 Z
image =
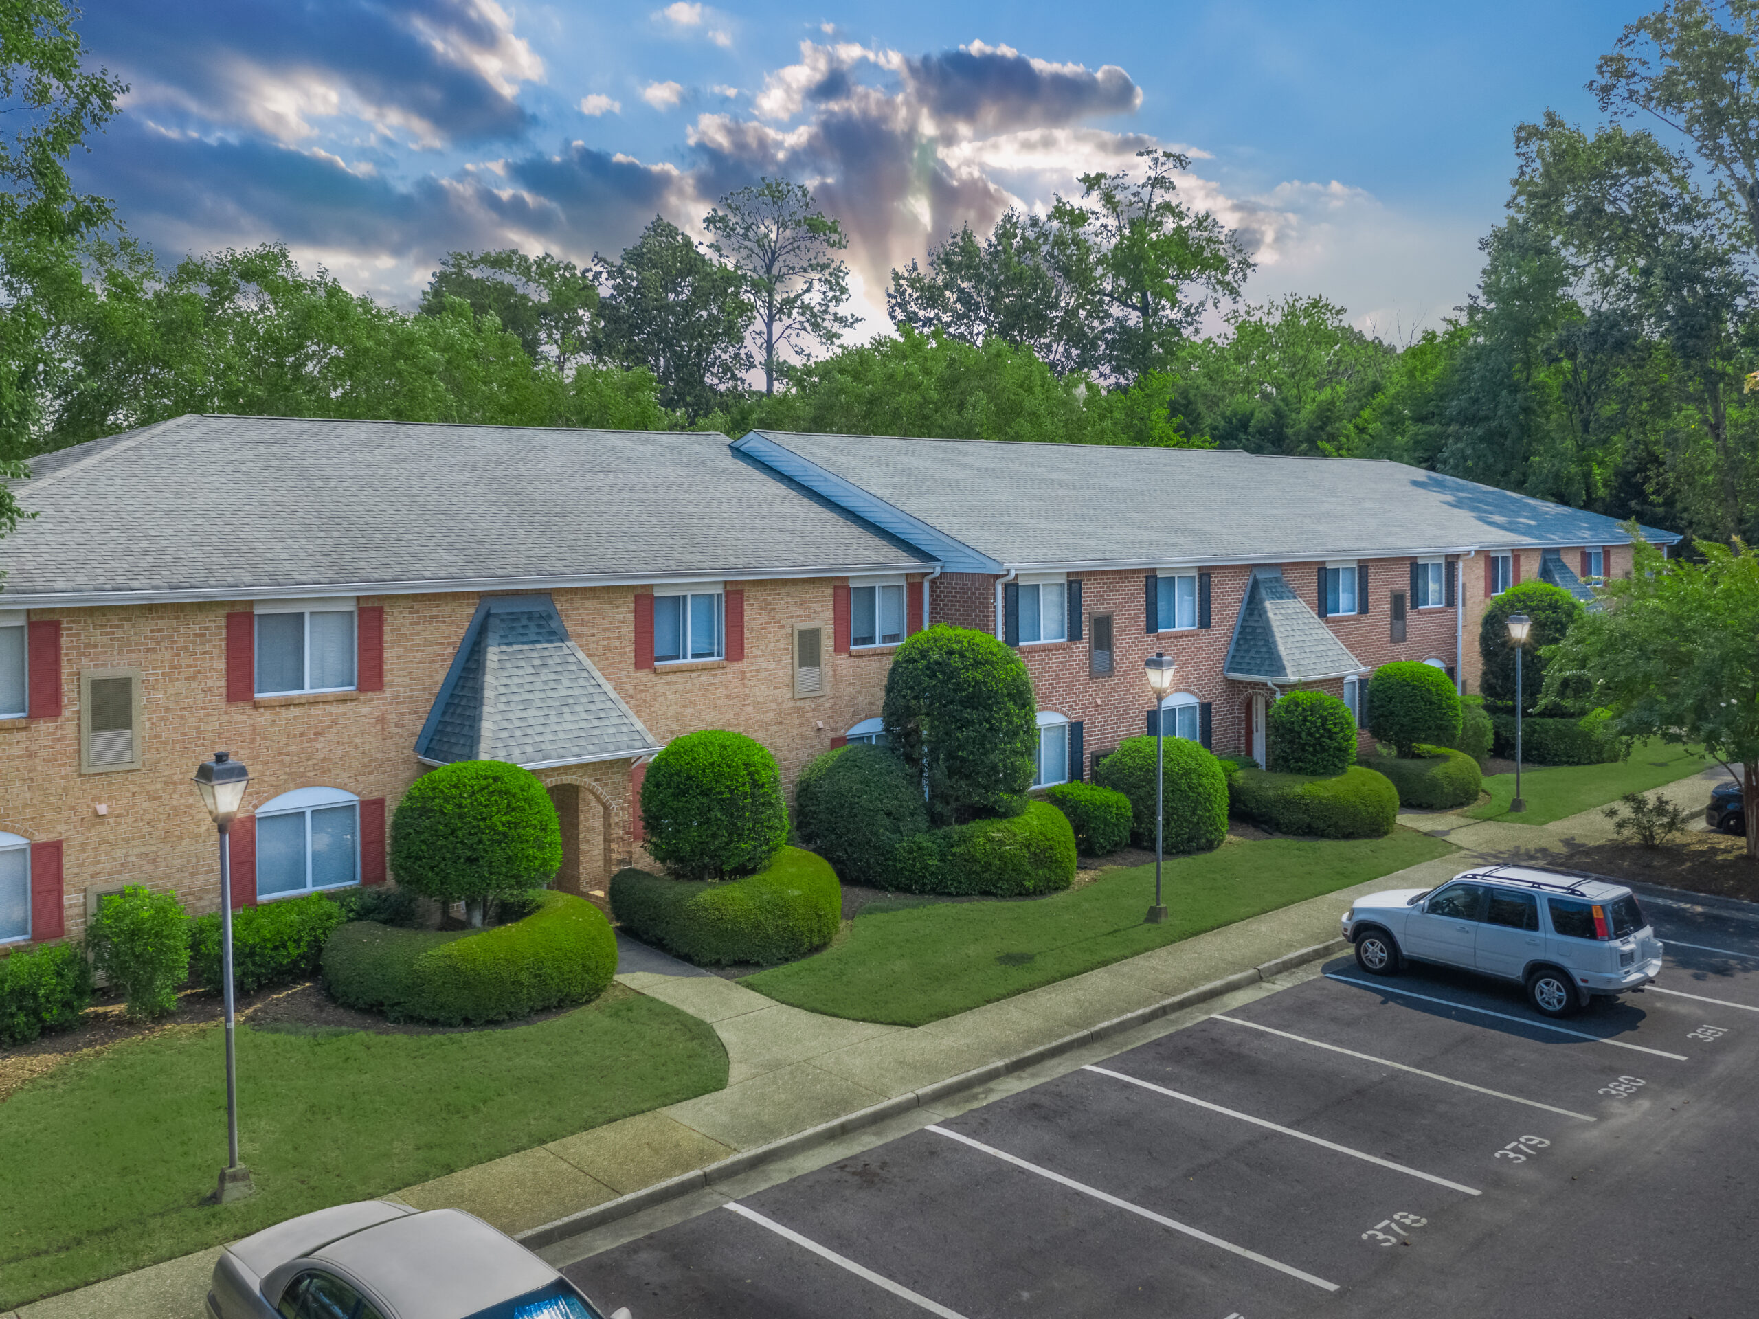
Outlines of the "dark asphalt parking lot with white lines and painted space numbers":
M 1325 973 L 568 1264 L 635 1319 L 1759 1312 L 1759 911 L 1657 985 Z

